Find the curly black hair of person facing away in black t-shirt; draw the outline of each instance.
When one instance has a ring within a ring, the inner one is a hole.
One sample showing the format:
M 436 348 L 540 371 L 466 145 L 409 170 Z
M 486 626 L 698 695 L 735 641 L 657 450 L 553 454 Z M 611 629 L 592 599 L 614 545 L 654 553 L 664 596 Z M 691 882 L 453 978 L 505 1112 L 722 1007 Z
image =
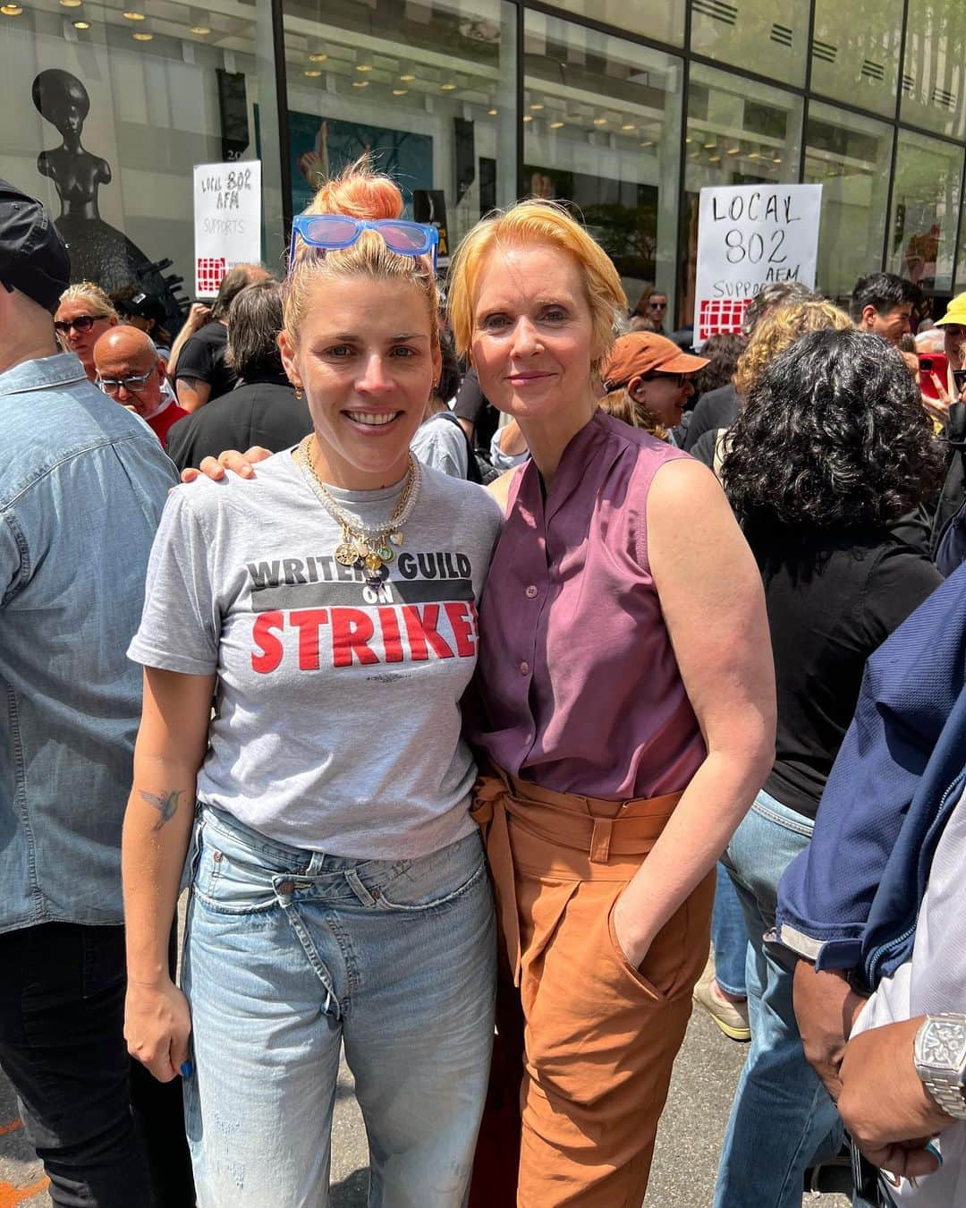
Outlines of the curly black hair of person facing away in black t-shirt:
M 879 336 L 828 330 L 763 370 L 729 430 L 722 482 L 751 528 L 855 530 L 898 519 L 942 472 L 902 356 Z

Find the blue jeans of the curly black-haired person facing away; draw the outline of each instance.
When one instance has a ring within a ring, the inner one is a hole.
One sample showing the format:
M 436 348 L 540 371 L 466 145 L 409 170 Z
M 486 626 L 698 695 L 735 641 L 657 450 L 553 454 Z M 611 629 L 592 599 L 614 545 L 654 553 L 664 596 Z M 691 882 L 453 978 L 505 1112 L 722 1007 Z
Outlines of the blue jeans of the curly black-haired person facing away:
M 715 1208 L 802 1208 L 804 1173 L 842 1143 L 842 1122 L 805 1061 L 792 1007 L 792 964 L 762 936 L 775 925 L 781 873 L 814 823 L 762 791 L 723 856 L 745 912 L 751 1045 L 721 1151 Z

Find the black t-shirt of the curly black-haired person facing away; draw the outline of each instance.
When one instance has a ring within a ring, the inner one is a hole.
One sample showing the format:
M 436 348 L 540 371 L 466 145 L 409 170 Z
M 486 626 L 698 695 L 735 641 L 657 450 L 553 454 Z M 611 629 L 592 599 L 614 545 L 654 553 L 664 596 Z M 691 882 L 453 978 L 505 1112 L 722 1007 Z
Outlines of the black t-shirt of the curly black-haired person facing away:
M 764 582 L 778 732 L 766 792 L 814 818 L 855 712 L 866 660 L 942 582 L 883 529 L 803 541 L 745 534 Z

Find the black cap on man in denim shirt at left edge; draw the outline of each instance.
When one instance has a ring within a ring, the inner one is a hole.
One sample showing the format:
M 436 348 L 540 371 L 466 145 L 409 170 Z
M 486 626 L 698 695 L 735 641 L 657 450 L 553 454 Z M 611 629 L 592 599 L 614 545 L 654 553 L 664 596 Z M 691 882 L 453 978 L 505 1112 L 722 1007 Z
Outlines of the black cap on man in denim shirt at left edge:
M 0 180 L 0 281 L 51 314 L 70 284 L 70 257 L 39 201 Z

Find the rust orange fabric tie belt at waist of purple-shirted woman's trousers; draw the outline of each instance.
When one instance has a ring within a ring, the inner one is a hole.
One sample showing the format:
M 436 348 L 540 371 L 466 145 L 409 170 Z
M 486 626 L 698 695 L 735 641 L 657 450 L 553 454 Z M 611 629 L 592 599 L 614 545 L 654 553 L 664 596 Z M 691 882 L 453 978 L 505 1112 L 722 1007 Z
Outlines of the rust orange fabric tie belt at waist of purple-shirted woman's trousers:
M 541 788 L 504 768 L 493 767 L 473 786 L 471 817 L 483 831 L 487 858 L 496 887 L 500 923 L 513 985 L 520 983 L 520 925 L 517 910 L 514 831 L 523 832 L 528 850 L 546 846 L 547 872 L 554 853 L 565 858 L 570 871 L 589 859 L 587 876 L 615 860 L 645 856 L 654 846 L 681 798 L 680 792 L 662 797 L 605 801 Z M 576 860 L 566 860 L 574 853 Z M 541 860 L 541 864 L 543 860 Z M 536 870 L 529 870 L 536 871 Z

